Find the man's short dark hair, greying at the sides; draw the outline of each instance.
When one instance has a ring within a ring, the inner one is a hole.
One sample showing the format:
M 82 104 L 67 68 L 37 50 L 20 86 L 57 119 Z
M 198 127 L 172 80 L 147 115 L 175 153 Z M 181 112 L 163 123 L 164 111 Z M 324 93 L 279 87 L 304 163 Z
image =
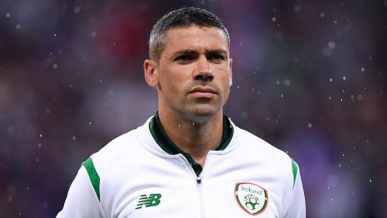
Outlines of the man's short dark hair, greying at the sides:
M 230 36 L 218 16 L 202 8 L 184 7 L 165 14 L 153 25 L 149 37 L 149 59 L 160 60 L 168 30 L 191 25 L 221 29 L 230 47 Z

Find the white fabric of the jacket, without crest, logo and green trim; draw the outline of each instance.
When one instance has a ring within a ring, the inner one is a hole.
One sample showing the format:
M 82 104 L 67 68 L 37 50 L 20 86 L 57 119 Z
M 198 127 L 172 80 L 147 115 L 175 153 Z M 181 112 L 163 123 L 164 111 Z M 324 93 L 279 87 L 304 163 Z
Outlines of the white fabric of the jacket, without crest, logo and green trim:
M 208 152 L 198 184 L 187 159 L 167 154 L 152 138 L 151 118 L 91 156 L 100 202 L 82 166 L 57 218 L 251 218 L 234 195 L 238 182 L 267 190 L 267 208 L 255 217 L 306 217 L 299 169 L 293 187 L 284 152 L 231 122 L 233 138 L 225 150 Z M 150 194 L 161 194 L 160 204 L 135 209 L 140 196 Z

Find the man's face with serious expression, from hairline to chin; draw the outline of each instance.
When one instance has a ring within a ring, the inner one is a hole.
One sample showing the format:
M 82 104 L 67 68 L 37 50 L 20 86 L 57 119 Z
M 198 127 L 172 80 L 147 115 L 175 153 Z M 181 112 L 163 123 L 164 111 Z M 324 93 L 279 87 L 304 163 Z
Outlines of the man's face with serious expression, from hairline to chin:
M 171 29 L 158 63 L 160 106 L 195 120 L 217 114 L 231 86 L 229 48 L 216 27 Z

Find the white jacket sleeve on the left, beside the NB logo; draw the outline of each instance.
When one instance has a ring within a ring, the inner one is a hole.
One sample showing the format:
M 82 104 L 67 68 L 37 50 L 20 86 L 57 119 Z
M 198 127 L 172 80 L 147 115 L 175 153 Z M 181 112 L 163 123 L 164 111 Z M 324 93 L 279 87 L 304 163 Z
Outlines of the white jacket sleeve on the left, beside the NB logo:
M 85 162 L 75 176 L 63 209 L 56 218 L 105 218 L 99 200 L 99 177 L 98 190 L 96 190 L 95 182 Z

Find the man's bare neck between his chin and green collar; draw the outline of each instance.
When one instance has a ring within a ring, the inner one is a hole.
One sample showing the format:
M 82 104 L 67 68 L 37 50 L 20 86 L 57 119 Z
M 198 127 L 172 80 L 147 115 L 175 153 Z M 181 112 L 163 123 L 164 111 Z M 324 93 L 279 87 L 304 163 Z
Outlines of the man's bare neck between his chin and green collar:
M 184 118 L 176 112 L 160 108 L 159 118 L 168 138 L 202 166 L 209 150 L 215 150 L 223 134 L 223 112 L 220 110 L 209 119 Z

